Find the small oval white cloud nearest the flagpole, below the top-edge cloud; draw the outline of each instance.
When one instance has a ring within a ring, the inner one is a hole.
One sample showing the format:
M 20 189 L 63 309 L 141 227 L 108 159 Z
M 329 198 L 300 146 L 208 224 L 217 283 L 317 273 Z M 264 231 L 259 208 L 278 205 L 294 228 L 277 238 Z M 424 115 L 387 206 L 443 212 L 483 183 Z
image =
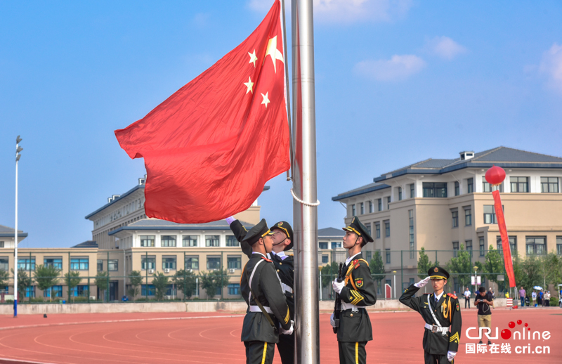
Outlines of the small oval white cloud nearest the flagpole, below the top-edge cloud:
M 424 69 L 426 62 L 412 54 L 394 55 L 389 60 L 362 60 L 355 65 L 356 74 L 377 81 L 400 81 Z

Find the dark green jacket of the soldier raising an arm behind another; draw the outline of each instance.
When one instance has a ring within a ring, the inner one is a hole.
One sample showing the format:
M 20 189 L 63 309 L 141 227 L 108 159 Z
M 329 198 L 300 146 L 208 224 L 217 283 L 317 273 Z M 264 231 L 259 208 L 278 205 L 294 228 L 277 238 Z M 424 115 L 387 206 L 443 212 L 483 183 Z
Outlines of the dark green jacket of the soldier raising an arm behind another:
M 240 248 L 242 252 L 251 258 L 251 245 L 247 242 L 242 242 L 242 239 L 247 234 L 246 228 L 240 223 L 240 221 L 235 220 L 233 223 L 230 224 L 230 230 L 233 230 L 234 236 L 236 240 L 240 242 Z M 292 255 L 287 256 L 287 258 L 280 260 L 275 257 L 275 254 L 272 255 L 272 261 L 275 265 L 275 271 L 277 271 L 277 275 L 279 276 L 281 282 L 285 283 L 294 290 L 294 259 Z M 291 313 L 291 320 L 294 320 L 294 293 L 285 291 L 285 297 L 287 298 L 287 304 L 289 305 L 289 312 Z

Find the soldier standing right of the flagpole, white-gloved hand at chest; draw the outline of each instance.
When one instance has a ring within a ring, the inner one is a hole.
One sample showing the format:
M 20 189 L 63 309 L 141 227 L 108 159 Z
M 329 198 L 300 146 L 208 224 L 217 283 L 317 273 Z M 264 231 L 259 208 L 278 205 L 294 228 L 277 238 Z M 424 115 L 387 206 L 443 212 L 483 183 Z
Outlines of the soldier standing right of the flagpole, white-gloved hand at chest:
M 339 363 L 363 364 L 367 363 L 365 344 L 373 339 L 371 319 L 365 306 L 372 306 L 377 302 L 377 289 L 371 278 L 369 264 L 361 255 L 361 248 L 367 242 L 372 242 L 373 238 L 357 216 L 353 216 L 344 230 L 344 248 L 348 249 L 349 255 L 342 271 L 345 279 L 341 282 L 334 280 L 332 284 L 341 300 L 337 327 Z M 330 323 L 335 329 L 334 315 L 330 318 Z

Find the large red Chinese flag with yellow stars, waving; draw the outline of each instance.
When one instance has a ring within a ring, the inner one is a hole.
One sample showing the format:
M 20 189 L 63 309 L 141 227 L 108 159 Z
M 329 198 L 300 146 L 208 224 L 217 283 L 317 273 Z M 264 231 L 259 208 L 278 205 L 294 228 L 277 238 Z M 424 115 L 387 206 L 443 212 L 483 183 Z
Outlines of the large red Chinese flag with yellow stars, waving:
M 280 1 L 245 40 L 143 119 L 115 131 L 145 159 L 146 215 L 205 223 L 248 209 L 287 171 Z

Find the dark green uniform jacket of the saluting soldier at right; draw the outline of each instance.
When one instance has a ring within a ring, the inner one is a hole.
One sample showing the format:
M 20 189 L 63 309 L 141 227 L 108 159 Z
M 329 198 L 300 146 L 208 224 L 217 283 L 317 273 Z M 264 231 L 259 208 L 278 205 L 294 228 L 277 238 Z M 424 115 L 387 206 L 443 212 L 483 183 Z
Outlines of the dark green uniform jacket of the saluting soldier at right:
M 449 327 L 449 332 L 446 335 L 440 332 L 431 332 L 428 329 L 424 331 L 424 351 L 432 355 L 446 355 L 447 351 L 459 351 L 459 341 L 461 339 L 461 326 L 462 317 L 460 311 L 459 300 L 452 294 L 443 293 L 438 301 L 437 306 L 434 306 L 435 295 L 429 294 L 429 302 L 427 304 L 428 294 L 422 294 L 420 297 L 414 297 L 414 294 L 419 290 L 418 287 L 410 285 L 400 297 L 400 302 L 406 306 L 412 308 L 412 310 L 418 311 L 424 321 L 429 325 L 435 325 L 436 323 L 431 316 L 431 311 L 435 314 L 439 323 L 443 327 Z M 447 307 L 450 305 L 450 312 L 447 310 L 446 313 L 443 312 L 442 306 L 446 304 Z M 445 318 L 445 314 L 447 318 Z M 449 316 L 451 315 L 451 316 Z

